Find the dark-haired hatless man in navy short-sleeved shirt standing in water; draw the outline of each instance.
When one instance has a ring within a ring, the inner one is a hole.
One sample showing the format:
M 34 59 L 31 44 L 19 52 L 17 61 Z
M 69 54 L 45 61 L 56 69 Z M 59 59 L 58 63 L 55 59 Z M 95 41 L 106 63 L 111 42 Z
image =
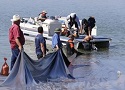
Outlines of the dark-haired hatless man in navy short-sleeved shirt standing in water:
M 38 27 L 38 35 L 35 37 L 35 47 L 37 58 L 40 59 L 46 55 L 46 41 L 43 37 L 43 27 Z

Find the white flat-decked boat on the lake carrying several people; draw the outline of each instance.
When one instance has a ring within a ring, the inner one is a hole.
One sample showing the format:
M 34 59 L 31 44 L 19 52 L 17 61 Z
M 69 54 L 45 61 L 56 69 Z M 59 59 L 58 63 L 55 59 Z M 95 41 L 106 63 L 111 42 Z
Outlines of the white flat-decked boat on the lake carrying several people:
M 54 34 L 55 28 L 61 28 L 62 30 L 64 30 L 66 17 L 58 17 L 56 19 L 48 18 L 44 22 L 38 22 L 35 20 L 35 18 L 32 18 L 32 17 L 25 18 L 24 17 L 21 19 L 20 27 L 24 33 L 24 36 L 28 40 L 34 41 L 34 37 L 38 34 L 37 28 L 39 26 L 43 27 L 43 29 L 44 29 L 43 36 L 47 40 L 50 41 L 49 44 L 51 44 L 51 40 L 52 40 L 52 36 Z M 81 22 L 81 20 L 80 20 L 80 22 Z M 73 27 L 72 29 L 75 29 L 75 27 Z M 76 49 L 83 49 L 83 46 L 84 46 L 83 38 L 85 36 L 86 35 L 79 35 L 78 38 L 75 38 L 74 42 L 75 42 Z M 95 26 L 92 29 L 92 37 L 93 37 L 93 39 L 90 40 L 90 42 L 84 42 L 84 43 L 86 43 L 86 45 L 87 44 L 94 45 L 98 49 L 109 48 L 109 45 L 110 45 L 109 42 L 111 41 L 111 38 L 97 36 L 97 26 Z M 68 39 L 69 38 L 66 36 L 60 36 L 60 40 L 62 41 L 62 43 L 64 45 L 66 45 L 66 42 L 68 41 Z

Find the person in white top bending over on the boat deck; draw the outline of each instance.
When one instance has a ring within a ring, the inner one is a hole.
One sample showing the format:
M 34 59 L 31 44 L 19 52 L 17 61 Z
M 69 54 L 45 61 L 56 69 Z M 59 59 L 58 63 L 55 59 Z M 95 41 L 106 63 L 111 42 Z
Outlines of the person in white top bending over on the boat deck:
M 76 35 L 78 35 L 78 32 L 80 30 L 80 21 L 76 13 L 71 13 L 70 15 L 67 16 L 67 23 L 68 25 L 66 26 L 70 29 L 70 32 L 73 25 L 75 25 L 75 28 L 77 28 Z

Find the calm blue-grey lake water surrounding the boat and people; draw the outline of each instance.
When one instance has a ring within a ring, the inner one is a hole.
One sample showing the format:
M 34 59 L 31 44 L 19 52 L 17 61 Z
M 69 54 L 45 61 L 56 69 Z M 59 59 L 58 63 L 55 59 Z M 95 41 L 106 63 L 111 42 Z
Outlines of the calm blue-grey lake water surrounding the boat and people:
M 125 90 L 124 4 L 125 0 L 1 0 L 0 65 L 3 64 L 4 57 L 7 57 L 8 63 L 10 63 L 8 29 L 11 26 L 10 19 L 14 14 L 22 17 L 34 17 L 38 16 L 42 10 L 46 10 L 48 16 L 67 16 L 71 12 L 75 12 L 80 19 L 94 16 L 98 27 L 97 34 L 112 38 L 112 41 L 108 50 L 86 52 L 85 55 L 78 57 L 74 61 L 76 65 L 87 63 L 89 66 L 73 67 L 71 72 L 78 78 L 78 82 L 63 83 L 62 85 L 70 87 L 72 90 L 76 89 L 75 85 L 76 87 L 79 85 L 79 90 L 83 90 L 81 88 L 86 88 L 86 90 Z M 27 41 L 24 49 L 32 58 L 36 58 L 33 54 L 33 42 Z M 120 78 L 117 77 L 117 71 L 122 72 Z

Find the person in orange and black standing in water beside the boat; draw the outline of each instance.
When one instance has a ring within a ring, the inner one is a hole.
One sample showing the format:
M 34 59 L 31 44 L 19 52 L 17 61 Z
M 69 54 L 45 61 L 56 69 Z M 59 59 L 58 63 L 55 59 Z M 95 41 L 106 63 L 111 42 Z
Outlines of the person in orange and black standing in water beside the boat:
M 77 52 L 74 48 L 74 35 L 69 35 L 69 40 L 66 42 L 66 52 L 67 55 L 73 55 L 75 52 Z

